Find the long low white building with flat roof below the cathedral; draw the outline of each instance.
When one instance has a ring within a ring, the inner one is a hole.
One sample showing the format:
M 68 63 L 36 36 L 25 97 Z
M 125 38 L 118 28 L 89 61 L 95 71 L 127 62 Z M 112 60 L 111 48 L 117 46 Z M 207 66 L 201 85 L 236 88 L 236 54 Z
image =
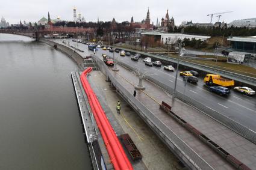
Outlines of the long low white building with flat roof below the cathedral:
M 176 33 L 167 33 L 167 32 L 159 32 L 159 31 L 149 31 L 149 32 L 143 32 L 142 35 L 154 35 L 155 37 L 160 38 L 161 43 L 175 43 L 178 39 L 184 40 L 184 38 L 189 38 L 190 40 L 192 38 L 195 38 L 196 40 L 202 40 L 205 41 L 208 38 L 211 38 L 210 36 L 202 36 L 202 35 L 189 35 L 189 34 L 176 34 Z

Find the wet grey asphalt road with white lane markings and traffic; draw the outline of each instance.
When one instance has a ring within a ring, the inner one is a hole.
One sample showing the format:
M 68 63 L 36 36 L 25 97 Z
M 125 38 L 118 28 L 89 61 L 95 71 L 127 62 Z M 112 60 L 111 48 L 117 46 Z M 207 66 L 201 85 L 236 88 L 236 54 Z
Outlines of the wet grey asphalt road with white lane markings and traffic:
M 88 52 L 88 48 L 85 44 L 79 44 L 79 49 Z M 99 58 L 102 58 L 102 53 L 113 56 L 113 53 L 108 52 L 108 50 L 98 49 L 98 51 L 96 51 L 96 55 Z M 161 67 L 149 67 L 145 65 L 142 58 L 140 58 L 139 61 L 132 61 L 130 56 L 122 57 L 119 53 L 114 53 L 114 55 L 119 58 L 119 61 L 133 65 L 134 68 L 148 71 L 148 73 L 155 79 L 174 88 L 176 70 L 173 72 L 163 70 L 163 65 Z M 179 70 L 179 73 L 180 71 L 186 70 Z M 184 93 L 184 84 L 183 77 L 178 74 L 176 90 L 180 93 Z M 229 96 L 219 96 L 208 91 L 208 88 L 204 85 L 203 79 L 200 77 L 199 82 L 196 85 L 187 83 L 185 96 L 202 103 L 213 111 L 226 115 L 226 117 L 229 117 L 256 132 L 256 97 L 245 96 L 233 90 L 231 90 Z

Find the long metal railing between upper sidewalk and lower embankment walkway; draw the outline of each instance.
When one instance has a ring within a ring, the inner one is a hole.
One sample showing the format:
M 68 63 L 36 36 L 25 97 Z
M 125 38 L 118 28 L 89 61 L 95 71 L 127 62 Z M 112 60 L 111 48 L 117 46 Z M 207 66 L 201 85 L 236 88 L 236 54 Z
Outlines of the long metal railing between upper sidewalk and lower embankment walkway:
M 98 57 L 93 57 L 98 64 L 100 70 L 108 76 L 111 83 L 116 87 L 116 89 L 125 97 L 125 99 L 134 107 L 137 108 L 142 117 L 146 117 L 150 124 L 153 124 L 159 132 L 163 133 L 164 137 L 171 143 L 174 147 L 174 151 L 179 151 L 187 160 L 193 165 L 192 169 L 213 169 L 207 162 L 205 162 L 202 157 L 200 157 L 192 148 L 189 147 L 181 138 L 179 138 L 171 129 L 169 129 L 166 124 L 160 121 L 151 111 L 149 111 L 146 106 L 144 106 L 139 100 L 137 100 L 126 88 L 124 88 L 117 80 L 116 77 L 111 74 L 107 65 L 99 59 Z M 176 153 L 178 154 L 178 153 Z M 180 154 L 178 154 L 180 155 Z M 191 167 L 190 167 L 191 168 Z

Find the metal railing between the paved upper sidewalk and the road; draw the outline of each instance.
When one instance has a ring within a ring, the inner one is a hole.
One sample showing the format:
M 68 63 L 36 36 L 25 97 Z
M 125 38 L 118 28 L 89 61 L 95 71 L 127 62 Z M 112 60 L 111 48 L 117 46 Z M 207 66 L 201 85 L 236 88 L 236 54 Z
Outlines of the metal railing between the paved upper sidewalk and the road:
M 134 70 L 134 68 L 131 67 L 131 65 L 125 64 L 124 62 L 119 62 L 119 64 L 129 68 L 130 70 Z M 146 76 L 146 79 L 150 80 L 151 82 L 154 82 L 155 84 L 157 84 L 158 86 L 160 86 L 161 88 L 169 92 L 170 94 L 173 94 L 173 88 L 160 82 L 154 77 L 149 75 L 149 76 Z M 237 121 L 231 120 L 230 118 L 226 117 L 220 112 L 213 111 L 213 109 L 207 108 L 207 106 L 198 102 L 195 99 L 192 99 L 191 97 L 184 96 L 183 93 L 180 93 L 178 91 L 176 91 L 175 93 L 178 99 L 183 100 L 183 102 L 188 103 L 189 105 L 192 105 L 196 109 L 199 109 L 204 114 L 208 115 L 209 117 L 213 118 L 214 120 L 218 121 L 219 123 L 223 124 L 224 126 L 228 127 L 234 132 L 239 133 L 239 135 L 243 136 L 244 138 L 256 144 L 256 133 L 253 130 L 243 126 Z

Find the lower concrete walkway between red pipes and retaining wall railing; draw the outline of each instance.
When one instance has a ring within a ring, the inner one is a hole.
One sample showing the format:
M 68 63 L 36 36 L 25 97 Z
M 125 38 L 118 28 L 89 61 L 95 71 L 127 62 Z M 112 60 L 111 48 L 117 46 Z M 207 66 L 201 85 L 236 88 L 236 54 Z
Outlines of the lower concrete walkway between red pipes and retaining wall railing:
M 166 145 L 161 142 L 144 121 L 133 111 L 133 109 L 116 93 L 110 82 L 100 71 L 92 71 L 88 77 L 93 90 L 99 101 L 110 107 L 111 114 L 122 127 L 122 133 L 128 133 L 133 139 L 136 147 L 142 153 L 142 160 L 148 169 L 183 169 L 179 160 L 170 153 Z M 121 102 L 121 114 L 116 113 L 116 103 Z M 104 102 L 103 102 L 104 101 Z M 104 104 L 104 105 L 105 105 Z M 112 118 L 111 118 L 112 119 Z M 115 129 L 117 135 L 120 129 Z

